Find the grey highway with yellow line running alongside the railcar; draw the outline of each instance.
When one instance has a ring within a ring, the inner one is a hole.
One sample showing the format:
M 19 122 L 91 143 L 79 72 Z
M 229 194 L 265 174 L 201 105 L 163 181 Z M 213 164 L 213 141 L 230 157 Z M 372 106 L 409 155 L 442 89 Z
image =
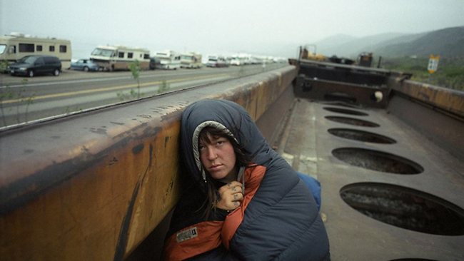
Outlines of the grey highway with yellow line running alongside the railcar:
M 260 64 L 141 71 L 138 82 L 130 71 L 84 72 L 65 69 L 60 76 L 34 78 L 0 74 L 0 129 L 146 98 L 164 91 L 240 78 L 281 66 L 286 66 L 286 63 L 270 63 L 265 67 Z

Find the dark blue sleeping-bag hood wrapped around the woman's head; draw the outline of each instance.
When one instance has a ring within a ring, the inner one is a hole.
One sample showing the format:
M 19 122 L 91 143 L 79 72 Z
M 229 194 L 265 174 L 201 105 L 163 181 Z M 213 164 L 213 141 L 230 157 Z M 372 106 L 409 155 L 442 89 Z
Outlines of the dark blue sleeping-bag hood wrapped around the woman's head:
M 266 165 L 276 156 L 247 111 L 237 103 L 211 99 L 192 103 L 182 113 L 181 157 L 186 171 L 201 184 L 203 191 L 206 185 L 201 173 L 198 135 L 205 127 L 218 128 L 234 138 L 253 163 Z

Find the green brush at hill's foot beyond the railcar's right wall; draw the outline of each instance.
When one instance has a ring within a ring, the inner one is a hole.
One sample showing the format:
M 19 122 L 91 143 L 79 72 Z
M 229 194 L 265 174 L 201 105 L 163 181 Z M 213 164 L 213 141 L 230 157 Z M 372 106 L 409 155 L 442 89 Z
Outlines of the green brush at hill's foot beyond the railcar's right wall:
M 440 58 L 438 70 L 428 73 L 428 58 L 383 58 L 383 68 L 412 73 L 411 80 L 464 91 L 464 58 Z

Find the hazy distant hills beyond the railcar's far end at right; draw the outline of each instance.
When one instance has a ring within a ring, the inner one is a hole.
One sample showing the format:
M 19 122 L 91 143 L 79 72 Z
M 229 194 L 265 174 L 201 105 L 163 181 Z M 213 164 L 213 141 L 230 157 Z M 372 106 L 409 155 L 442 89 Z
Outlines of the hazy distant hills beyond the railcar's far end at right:
M 363 51 L 373 52 L 374 56 L 387 57 L 428 57 L 432 53 L 442 57 L 464 57 L 464 26 L 422 34 L 378 34 L 338 43 L 331 42 L 333 39 L 336 36 L 318 41 L 317 52 L 325 56 L 352 58 Z

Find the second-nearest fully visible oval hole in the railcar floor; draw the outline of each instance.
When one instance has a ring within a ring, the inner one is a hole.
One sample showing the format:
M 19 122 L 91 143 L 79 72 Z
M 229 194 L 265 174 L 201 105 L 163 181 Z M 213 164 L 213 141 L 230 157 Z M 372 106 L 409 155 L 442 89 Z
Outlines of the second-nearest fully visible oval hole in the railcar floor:
M 365 148 L 336 148 L 332 150 L 339 160 L 350 165 L 395 174 L 419 174 L 424 171 L 418 163 L 398 155 Z

